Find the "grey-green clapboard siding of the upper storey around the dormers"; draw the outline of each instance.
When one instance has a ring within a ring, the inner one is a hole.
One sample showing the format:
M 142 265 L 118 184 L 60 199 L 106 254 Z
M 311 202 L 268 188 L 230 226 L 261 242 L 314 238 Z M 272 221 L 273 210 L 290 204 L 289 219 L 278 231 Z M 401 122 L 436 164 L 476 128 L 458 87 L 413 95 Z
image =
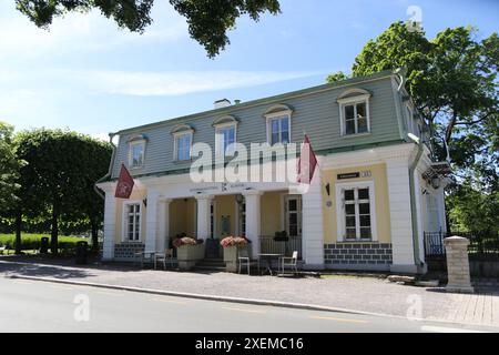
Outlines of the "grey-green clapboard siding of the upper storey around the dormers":
M 345 90 L 353 88 L 365 89 L 373 93 L 369 103 L 371 134 L 358 138 L 342 138 L 339 105 L 336 101 L 338 95 Z M 252 142 L 258 143 L 266 141 L 264 112 L 275 103 L 286 104 L 294 110 L 292 118 L 292 141 L 297 143 L 302 142 L 304 132 L 306 132 L 314 150 L 320 151 L 400 139 L 394 98 L 391 79 L 390 77 L 385 77 L 384 79 L 374 81 L 359 82 L 354 87 L 312 92 L 279 102 L 266 102 L 247 108 L 244 105 L 241 108 L 234 105 L 231 108 L 230 114 L 240 121 L 237 126 L 237 142 L 249 146 Z M 145 134 L 149 140 L 145 149 L 144 166 L 142 169 L 131 170 L 133 175 L 161 173 L 189 168 L 190 162 L 180 163 L 173 160 L 174 140 L 171 134 L 172 129 L 181 123 L 190 124 L 195 130 L 193 135 L 194 143 L 205 142 L 214 146 L 215 130 L 212 124 L 218 116 L 220 114 L 216 112 L 207 112 L 196 118 L 181 121 L 172 120 L 172 122 L 165 121 L 157 125 L 126 130 L 120 133 L 112 178 L 119 175 L 121 163 L 128 165 L 128 141 L 130 136 L 135 134 Z

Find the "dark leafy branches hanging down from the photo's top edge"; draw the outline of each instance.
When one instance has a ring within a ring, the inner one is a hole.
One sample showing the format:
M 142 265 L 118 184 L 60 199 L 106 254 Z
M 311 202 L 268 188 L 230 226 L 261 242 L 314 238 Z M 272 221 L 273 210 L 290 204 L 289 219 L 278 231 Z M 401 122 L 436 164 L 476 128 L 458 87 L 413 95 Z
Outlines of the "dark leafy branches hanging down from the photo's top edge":
M 18 9 L 38 27 L 48 28 L 53 18 L 71 11 L 98 9 L 121 28 L 143 32 L 152 23 L 154 0 L 16 0 Z M 213 58 L 231 43 L 227 30 L 237 18 L 248 14 L 254 21 L 264 12 L 277 14 L 278 0 L 170 0 L 174 9 L 186 18 L 189 33 Z

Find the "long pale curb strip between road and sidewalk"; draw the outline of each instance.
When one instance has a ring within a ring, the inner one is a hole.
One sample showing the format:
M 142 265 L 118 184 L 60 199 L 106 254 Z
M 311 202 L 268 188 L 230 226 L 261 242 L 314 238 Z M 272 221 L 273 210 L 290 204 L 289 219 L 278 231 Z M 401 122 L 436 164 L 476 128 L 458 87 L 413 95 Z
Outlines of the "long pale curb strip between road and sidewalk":
M 385 317 L 385 318 L 407 320 L 407 317 L 399 316 L 399 315 L 393 315 L 393 314 L 347 310 L 347 308 L 340 308 L 340 307 L 328 307 L 328 306 L 303 304 L 303 303 L 204 295 L 204 294 L 196 294 L 196 293 L 164 291 L 164 290 L 154 290 L 154 288 L 141 288 L 141 287 L 91 283 L 91 282 L 82 282 L 82 281 L 60 280 L 60 278 L 51 278 L 51 277 L 35 277 L 35 276 L 24 276 L 24 275 L 7 275 L 6 277 L 13 278 L 13 280 L 16 280 L 16 278 L 31 280 L 31 281 L 41 281 L 41 282 L 58 283 L 58 284 L 69 284 L 69 285 L 88 286 L 88 287 L 96 287 L 96 288 L 129 291 L 129 292 L 135 292 L 135 293 L 145 293 L 145 294 L 214 301 L 214 302 L 228 302 L 228 303 L 238 303 L 238 304 L 252 304 L 252 305 L 261 305 L 261 306 L 274 306 L 274 307 L 283 307 L 283 308 L 305 310 L 305 311 L 336 312 L 336 313 L 345 313 L 345 314 L 348 313 L 348 314 L 358 314 L 358 315 L 369 315 L 369 316 L 377 316 L 377 317 Z M 445 321 L 445 320 L 413 318 L 411 321 L 454 324 L 454 325 L 461 325 L 461 326 L 467 325 L 467 326 L 497 327 L 496 325 L 481 325 L 481 324 L 475 324 L 475 323 L 457 323 L 457 322 Z

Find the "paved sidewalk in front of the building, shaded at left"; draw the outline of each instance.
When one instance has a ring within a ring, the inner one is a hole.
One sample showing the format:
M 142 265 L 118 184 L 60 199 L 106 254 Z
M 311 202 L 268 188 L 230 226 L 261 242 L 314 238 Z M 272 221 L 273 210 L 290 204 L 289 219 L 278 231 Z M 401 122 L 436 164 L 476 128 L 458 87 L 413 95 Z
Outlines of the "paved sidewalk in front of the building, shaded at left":
M 64 264 L 64 262 L 62 262 Z M 396 316 L 499 326 L 499 292 L 449 294 L 381 278 L 332 276 L 292 278 L 228 273 L 181 273 L 120 265 L 84 267 L 0 258 L 0 275 L 38 276 L 118 286 L 314 304 Z M 420 305 L 420 307 L 419 307 Z

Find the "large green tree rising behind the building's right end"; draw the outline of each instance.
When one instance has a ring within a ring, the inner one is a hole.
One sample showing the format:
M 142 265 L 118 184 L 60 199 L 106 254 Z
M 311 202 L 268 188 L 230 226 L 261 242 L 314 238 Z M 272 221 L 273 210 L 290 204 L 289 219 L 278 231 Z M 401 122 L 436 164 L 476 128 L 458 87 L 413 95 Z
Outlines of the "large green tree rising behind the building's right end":
M 497 33 L 479 40 L 476 28 L 457 27 L 427 39 L 395 22 L 367 42 L 352 69 L 353 77 L 407 69 L 406 87 L 437 138 L 434 149 L 440 159 L 444 143 L 450 151 L 455 179 L 448 210 L 459 227 L 498 224 L 497 200 L 492 203 L 499 189 L 498 63 Z M 335 73 L 327 80 L 342 79 Z

